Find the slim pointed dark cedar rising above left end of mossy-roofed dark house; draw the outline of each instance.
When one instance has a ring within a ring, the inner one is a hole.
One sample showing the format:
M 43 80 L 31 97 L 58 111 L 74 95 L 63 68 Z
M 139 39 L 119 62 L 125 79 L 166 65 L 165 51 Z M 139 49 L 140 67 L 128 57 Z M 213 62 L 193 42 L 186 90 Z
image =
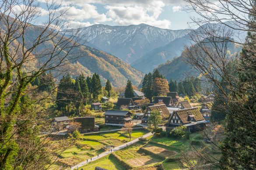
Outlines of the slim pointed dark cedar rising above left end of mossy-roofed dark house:
M 76 113 L 78 114 L 81 110 L 81 105 L 83 102 L 83 94 L 81 91 L 80 83 L 78 77 L 76 78 L 76 82 L 74 85 L 74 105 L 76 107 Z

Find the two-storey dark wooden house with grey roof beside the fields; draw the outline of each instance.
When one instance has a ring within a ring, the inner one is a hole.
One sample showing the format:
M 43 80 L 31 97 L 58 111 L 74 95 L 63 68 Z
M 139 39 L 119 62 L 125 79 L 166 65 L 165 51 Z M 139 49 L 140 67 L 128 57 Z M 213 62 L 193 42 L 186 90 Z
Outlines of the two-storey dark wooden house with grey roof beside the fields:
M 104 115 L 106 125 L 123 126 L 125 122 L 132 121 L 132 113 L 129 111 L 107 110 Z

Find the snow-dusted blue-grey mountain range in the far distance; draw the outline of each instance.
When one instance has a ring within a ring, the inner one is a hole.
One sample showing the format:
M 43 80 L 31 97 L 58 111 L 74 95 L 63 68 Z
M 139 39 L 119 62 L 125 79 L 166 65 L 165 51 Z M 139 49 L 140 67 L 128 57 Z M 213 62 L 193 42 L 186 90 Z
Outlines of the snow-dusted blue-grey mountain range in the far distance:
M 70 29 L 70 32 L 76 29 Z M 127 63 L 132 63 L 151 51 L 183 37 L 190 30 L 168 30 L 147 24 L 129 26 L 109 26 L 96 24 L 83 27 L 79 35 L 100 50 L 113 54 Z

